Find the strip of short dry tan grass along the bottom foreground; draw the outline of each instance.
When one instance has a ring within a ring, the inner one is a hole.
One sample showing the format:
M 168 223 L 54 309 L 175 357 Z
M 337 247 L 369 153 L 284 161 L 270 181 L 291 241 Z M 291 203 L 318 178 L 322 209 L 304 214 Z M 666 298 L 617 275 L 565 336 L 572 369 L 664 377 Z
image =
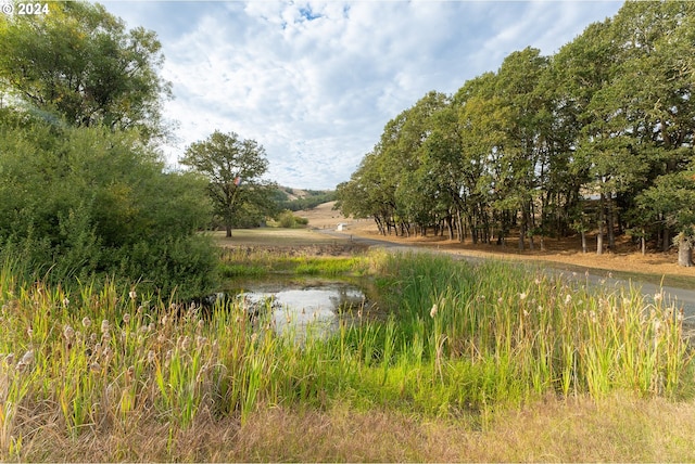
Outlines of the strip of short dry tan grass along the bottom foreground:
M 51 462 L 692 462 L 695 403 L 615 396 L 548 399 L 486 425 L 344 404 L 327 411 L 261 408 L 244 425 L 199 417 L 169 436 L 154 420 L 128 429 L 25 438 L 22 461 Z

